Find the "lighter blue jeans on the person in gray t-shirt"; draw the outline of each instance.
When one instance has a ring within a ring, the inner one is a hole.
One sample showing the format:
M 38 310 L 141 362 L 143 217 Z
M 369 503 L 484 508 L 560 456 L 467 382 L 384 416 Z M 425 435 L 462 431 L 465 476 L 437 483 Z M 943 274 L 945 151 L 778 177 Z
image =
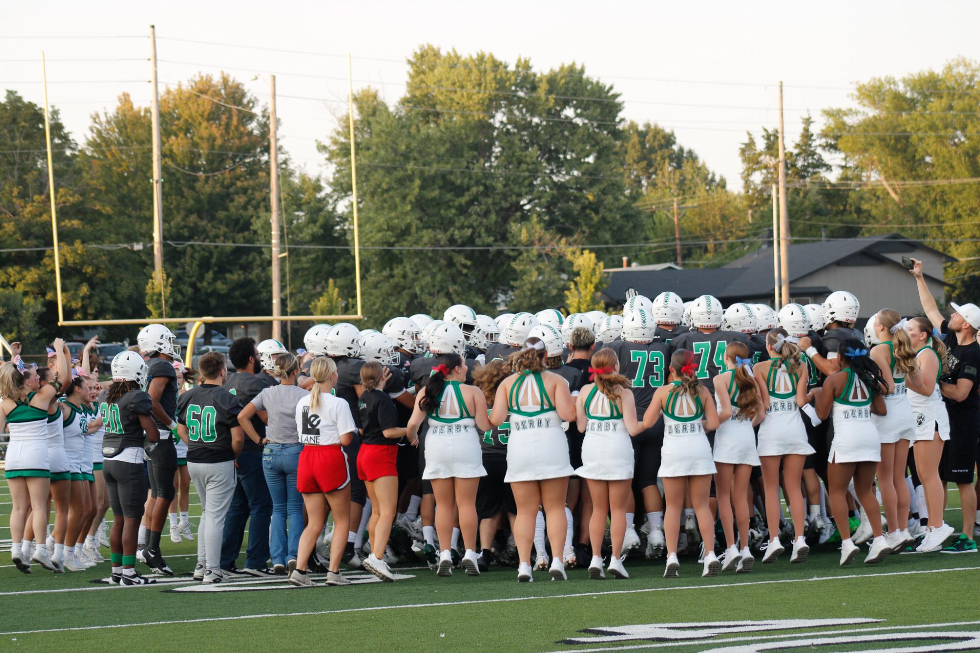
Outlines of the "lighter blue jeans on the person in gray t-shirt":
M 296 490 L 296 469 L 302 443 L 267 443 L 262 452 L 262 470 L 272 495 L 272 528 L 269 542 L 273 565 L 295 560 L 303 535 L 303 495 Z M 288 519 L 288 535 L 286 521 Z

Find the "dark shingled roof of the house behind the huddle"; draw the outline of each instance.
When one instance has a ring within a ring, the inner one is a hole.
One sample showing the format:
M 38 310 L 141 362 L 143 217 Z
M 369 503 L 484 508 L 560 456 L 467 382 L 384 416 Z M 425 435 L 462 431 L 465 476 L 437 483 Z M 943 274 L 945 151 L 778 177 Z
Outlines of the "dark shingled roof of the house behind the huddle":
M 869 262 L 895 264 L 894 260 L 881 253 L 894 253 L 896 246 L 903 245 L 910 246 L 909 252 L 912 249 L 925 249 L 945 257 L 947 261 L 956 260 L 900 234 L 798 243 L 790 245 L 790 283 L 847 257 L 865 256 Z M 685 297 L 713 295 L 719 300 L 764 297 L 773 292 L 771 247 L 760 248 L 723 267 L 666 270 L 647 269 L 649 267 L 610 270 L 610 285 L 605 294 L 613 302 L 620 302 L 629 288 L 644 294 L 653 293 L 655 289 L 660 292 L 663 288 L 684 288 Z M 942 282 L 943 279 L 938 278 L 938 281 Z

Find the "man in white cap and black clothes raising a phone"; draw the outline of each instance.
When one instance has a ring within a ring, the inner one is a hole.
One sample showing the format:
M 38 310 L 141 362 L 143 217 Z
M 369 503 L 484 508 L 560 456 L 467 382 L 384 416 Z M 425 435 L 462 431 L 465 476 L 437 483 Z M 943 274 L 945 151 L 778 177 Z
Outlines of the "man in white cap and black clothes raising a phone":
M 950 440 L 943 447 L 939 463 L 939 476 L 944 489 L 948 483 L 956 483 L 963 514 L 963 532 L 943 553 L 976 553 L 977 545 L 970 536 L 977 509 L 977 496 L 973 489 L 973 468 L 977 463 L 977 446 L 980 441 L 980 395 L 977 394 L 977 375 L 980 370 L 980 345 L 977 330 L 980 329 L 980 307 L 975 303 L 950 303 L 956 311 L 950 319 L 943 317 L 936 300 L 922 278 L 922 261 L 914 258 L 909 271 L 918 286 L 919 301 L 933 327 L 943 334 L 947 357 L 943 362 L 939 390 L 943 394 L 946 410 L 950 415 Z M 903 260 L 905 263 L 905 260 Z

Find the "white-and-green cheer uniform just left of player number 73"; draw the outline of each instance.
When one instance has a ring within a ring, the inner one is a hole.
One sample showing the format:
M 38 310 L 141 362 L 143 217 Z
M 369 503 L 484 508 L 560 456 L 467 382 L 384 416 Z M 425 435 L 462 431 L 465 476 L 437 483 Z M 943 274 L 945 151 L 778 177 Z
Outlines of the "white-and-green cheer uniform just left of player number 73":
M 622 419 L 622 410 L 592 386 L 585 397 L 588 424 L 582 439 L 582 466 L 575 475 L 593 481 L 626 481 L 633 478 L 633 443 Z

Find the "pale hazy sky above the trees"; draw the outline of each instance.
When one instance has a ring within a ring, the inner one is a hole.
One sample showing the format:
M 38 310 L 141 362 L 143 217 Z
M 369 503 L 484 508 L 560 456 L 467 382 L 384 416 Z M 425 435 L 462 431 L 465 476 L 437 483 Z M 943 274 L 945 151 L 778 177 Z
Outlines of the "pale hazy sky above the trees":
M 242 80 L 276 73 L 282 145 L 314 173 L 322 171 L 315 139 L 346 110 L 348 52 L 355 86 L 374 86 L 389 102 L 401 96 L 404 61 L 422 43 L 488 51 L 509 64 L 528 57 L 538 70 L 584 64 L 622 94 L 626 117 L 672 129 L 733 189 L 746 130 L 758 136 L 777 124 L 779 80 L 791 145 L 803 114 L 819 123 L 821 109 L 848 105 L 856 81 L 980 59 L 973 2 L 7 2 L 0 85 L 40 104 L 43 49 L 51 104 L 83 143 L 90 115 L 123 91 L 149 104 L 151 23 L 161 91 L 198 70 Z M 268 77 L 247 83 L 268 102 Z

